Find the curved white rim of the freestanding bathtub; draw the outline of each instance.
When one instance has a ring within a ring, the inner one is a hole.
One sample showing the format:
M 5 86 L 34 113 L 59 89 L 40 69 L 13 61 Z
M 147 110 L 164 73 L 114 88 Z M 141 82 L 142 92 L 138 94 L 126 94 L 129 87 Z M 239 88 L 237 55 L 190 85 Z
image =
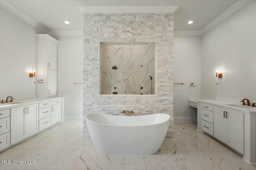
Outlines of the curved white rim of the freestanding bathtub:
M 104 123 L 98 123 L 98 122 L 95 122 L 95 121 L 92 121 L 88 118 L 88 115 L 91 115 L 91 114 L 99 114 L 99 115 L 107 115 L 107 116 L 122 116 L 122 115 L 108 115 L 108 114 L 103 114 L 103 113 L 88 113 L 85 117 L 86 117 L 86 121 L 90 121 L 92 123 L 96 123 L 96 124 L 99 124 L 99 125 L 107 125 L 107 126 L 113 126 L 113 127 L 146 127 L 146 126 L 152 126 L 152 125 L 160 125 L 162 123 L 165 123 L 166 121 L 170 121 L 170 118 L 171 116 L 167 113 L 153 113 L 153 114 L 148 114 L 148 115 L 160 115 L 160 114 L 164 114 L 164 115 L 168 115 L 168 119 L 166 119 L 165 121 L 162 121 L 160 123 L 156 123 L 156 124 L 150 124 L 150 125 L 140 125 L 140 126 L 125 126 L 125 125 L 110 125 L 110 124 L 104 124 Z M 138 116 L 148 116 L 148 115 L 138 115 Z M 126 117 L 126 116 L 123 116 L 123 117 Z M 131 116 L 131 117 L 137 117 L 137 116 Z

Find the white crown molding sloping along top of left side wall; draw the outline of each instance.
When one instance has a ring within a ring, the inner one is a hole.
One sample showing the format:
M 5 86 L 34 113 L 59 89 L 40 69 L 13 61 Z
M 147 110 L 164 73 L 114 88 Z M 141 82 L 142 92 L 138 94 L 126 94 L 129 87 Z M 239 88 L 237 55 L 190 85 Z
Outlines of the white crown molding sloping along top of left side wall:
M 12 4 L 10 4 L 9 2 L 7 2 L 6 0 L 0 0 L 0 6 L 5 8 L 6 10 L 12 12 L 14 15 L 20 17 L 22 20 L 26 21 L 30 25 L 40 29 L 44 33 L 49 33 L 50 30 L 48 28 L 46 28 L 41 23 L 33 20 L 32 18 L 30 18 L 27 14 L 25 14 L 24 12 L 22 12 L 21 10 L 19 10 L 18 8 L 16 8 Z

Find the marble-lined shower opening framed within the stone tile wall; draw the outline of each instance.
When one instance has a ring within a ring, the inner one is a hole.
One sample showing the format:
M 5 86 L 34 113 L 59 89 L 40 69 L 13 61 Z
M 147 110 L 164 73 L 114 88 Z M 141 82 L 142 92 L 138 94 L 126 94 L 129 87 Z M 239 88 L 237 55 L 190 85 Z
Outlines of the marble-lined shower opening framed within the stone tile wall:
M 155 94 L 155 44 L 100 43 L 100 94 Z

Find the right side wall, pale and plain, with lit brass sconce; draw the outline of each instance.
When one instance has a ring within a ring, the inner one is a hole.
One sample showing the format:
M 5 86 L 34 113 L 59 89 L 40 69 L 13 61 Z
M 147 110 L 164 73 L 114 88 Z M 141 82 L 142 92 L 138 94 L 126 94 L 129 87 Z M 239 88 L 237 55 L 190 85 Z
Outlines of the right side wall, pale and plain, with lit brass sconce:
M 215 80 L 215 70 L 223 78 Z M 256 1 L 202 35 L 202 96 L 256 100 Z

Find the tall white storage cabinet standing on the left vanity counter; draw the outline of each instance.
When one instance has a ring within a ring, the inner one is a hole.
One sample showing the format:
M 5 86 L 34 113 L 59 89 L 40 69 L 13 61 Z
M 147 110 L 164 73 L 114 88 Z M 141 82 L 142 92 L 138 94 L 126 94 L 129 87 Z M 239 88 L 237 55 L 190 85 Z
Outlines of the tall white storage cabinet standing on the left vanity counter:
M 48 34 L 37 34 L 38 98 L 57 94 L 57 45 L 58 40 Z

